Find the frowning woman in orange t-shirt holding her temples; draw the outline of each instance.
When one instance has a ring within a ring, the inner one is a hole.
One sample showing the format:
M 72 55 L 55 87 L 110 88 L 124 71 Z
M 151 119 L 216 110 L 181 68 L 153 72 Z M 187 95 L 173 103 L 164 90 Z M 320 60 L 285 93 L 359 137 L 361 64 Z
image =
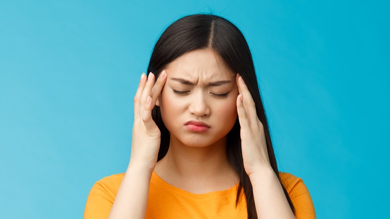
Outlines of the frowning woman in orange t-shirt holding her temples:
M 84 218 L 315 218 L 302 180 L 277 169 L 235 25 L 208 14 L 178 19 L 147 72 L 134 97 L 127 170 L 93 185 Z

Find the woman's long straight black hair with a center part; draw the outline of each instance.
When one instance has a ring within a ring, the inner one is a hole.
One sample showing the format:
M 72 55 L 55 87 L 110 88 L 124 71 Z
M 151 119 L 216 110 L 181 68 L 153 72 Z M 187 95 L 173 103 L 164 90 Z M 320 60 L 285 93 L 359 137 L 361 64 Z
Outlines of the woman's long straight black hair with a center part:
M 153 72 L 156 74 L 155 78 L 157 78 L 163 68 L 175 58 L 186 52 L 204 48 L 212 48 L 219 53 L 226 64 L 234 72 L 239 73 L 245 81 L 255 102 L 257 117 L 264 127 L 270 165 L 279 178 L 268 123 L 265 117 L 265 111 L 254 71 L 252 55 L 250 54 L 245 37 L 233 23 L 223 17 L 212 14 L 193 14 L 176 20 L 163 31 L 155 43 L 147 72 Z M 161 143 L 157 158 L 157 160 L 160 160 L 165 156 L 169 148 L 169 131 L 162 122 L 158 106 L 154 106 L 152 118 L 161 131 Z M 250 183 L 249 176 L 246 174 L 243 166 L 238 118 L 227 134 L 227 142 L 227 159 L 239 177 L 236 204 L 238 204 L 239 197 L 243 191 L 246 199 L 248 218 L 257 218 L 252 184 Z M 292 212 L 295 212 L 285 187 L 282 183 L 280 184 Z

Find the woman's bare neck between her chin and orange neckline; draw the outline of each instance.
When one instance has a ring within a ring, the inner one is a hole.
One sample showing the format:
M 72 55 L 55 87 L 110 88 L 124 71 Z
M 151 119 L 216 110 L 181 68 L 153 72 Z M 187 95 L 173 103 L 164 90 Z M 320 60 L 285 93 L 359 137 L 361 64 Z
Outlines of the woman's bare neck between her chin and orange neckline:
M 154 171 L 169 184 L 186 190 L 196 190 L 193 186 L 196 184 L 213 187 L 222 183 L 228 188 L 237 182 L 235 171 L 227 160 L 226 137 L 199 147 L 187 146 L 171 138 L 166 155 L 157 162 Z

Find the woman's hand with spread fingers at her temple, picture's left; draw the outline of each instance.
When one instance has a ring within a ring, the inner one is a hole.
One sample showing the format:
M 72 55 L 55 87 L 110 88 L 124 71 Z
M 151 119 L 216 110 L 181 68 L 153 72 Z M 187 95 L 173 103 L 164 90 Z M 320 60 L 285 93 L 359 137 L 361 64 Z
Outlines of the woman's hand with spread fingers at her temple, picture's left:
M 134 96 L 134 124 L 132 127 L 131 155 L 129 166 L 153 171 L 160 146 L 160 130 L 151 118 L 153 109 L 166 81 L 166 71 L 162 70 L 154 84 L 154 74 L 142 73 Z

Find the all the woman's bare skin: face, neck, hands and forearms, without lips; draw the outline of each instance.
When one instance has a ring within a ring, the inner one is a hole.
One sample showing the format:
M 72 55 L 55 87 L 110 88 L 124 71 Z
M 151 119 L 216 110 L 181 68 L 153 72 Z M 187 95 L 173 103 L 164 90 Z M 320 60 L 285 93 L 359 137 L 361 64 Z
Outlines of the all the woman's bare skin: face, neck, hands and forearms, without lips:
M 173 78 L 185 78 L 192 85 Z M 230 81 L 219 86 L 210 82 Z M 227 162 L 226 134 L 238 115 L 244 168 L 253 186 L 258 218 L 294 218 L 277 176 L 269 164 L 264 129 L 242 78 L 212 49 L 195 50 L 168 64 L 154 82 L 142 74 L 134 97 L 131 157 L 109 218 L 144 218 L 154 170 L 166 182 L 193 193 L 222 190 L 237 182 Z M 177 94 L 172 89 L 189 91 Z M 216 97 L 215 93 L 226 93 Z M 160 131 L 151 118 L 160 106 L 170 131 L 167 154 L 157 163 Z M 184 127 L 199 120 L 210 128 L 194 133 Z M 223 122 L 222 122 L 223 121 Z M 207 168 L 205 168 L 207 166 Z M 135 177 L 136 176 L 136 177 Z

